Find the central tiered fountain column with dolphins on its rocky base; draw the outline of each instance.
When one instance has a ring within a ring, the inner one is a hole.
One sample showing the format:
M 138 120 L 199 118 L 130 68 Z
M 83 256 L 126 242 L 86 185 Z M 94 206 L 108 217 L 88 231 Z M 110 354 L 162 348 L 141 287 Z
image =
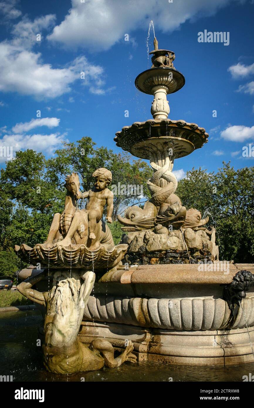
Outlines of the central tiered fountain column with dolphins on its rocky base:
M 186 211 L 175 194 L 177 179 L 172 173 L 174 160 L 200 149 L 207 143 L 208 133 L 195 123 L 168 119 L 167 95 L 179 91 L 185 79 L 173 66 L 174 53 L 158 49 L 156 38 L 154 46 L 150 52 L 151 69 L 135 80 L 139 91 L 154 95 L 154 119 L 125 126 L 114 139 L 117 146 L 134 156 L 150 160 L 154 171 L 147 182 L 151 198 L 144 209 L 132 206 L 126 209 L 124 217 L 118 216 L 124 225 L 122 230 L 131 232 L 123 238 L 123 243 L 128 244 L 125 260 L 131 264 L 218 260 L 215 230 L 206 227 L 209 217 L 202 219 L 194 208 Z

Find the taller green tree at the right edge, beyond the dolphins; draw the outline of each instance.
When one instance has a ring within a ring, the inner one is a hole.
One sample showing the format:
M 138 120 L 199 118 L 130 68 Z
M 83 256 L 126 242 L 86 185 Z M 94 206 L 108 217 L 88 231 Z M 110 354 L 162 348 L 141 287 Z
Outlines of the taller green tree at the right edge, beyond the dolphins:
M 215 177 L 214 218 L 221 259 L 254 262 L 254 167 L 223 162 Z

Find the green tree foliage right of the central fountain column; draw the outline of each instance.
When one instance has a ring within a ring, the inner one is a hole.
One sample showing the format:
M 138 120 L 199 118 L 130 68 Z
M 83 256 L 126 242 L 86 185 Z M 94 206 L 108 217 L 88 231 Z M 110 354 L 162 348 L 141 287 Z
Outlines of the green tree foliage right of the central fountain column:
M 216 228 L 220 259 L 254 262 L 254 167 L 235 170 L 229 163 L 214 173 L 192 169 L 177 194 L 186 208 L 207 210 Z

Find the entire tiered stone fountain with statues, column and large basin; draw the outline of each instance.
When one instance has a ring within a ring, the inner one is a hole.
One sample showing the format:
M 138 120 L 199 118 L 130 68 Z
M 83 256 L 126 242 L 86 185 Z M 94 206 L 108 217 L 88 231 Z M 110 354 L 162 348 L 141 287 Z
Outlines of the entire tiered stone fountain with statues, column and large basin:
M 191 365 L 254 359 L 254 265 L 220 262 L 209 218 L 186 209 L 175 194 L 174 160 L 201 148 L 208 134 L 168 119 L 166 95 L 185 80 L 173 66 L 174 53 L 158 49 L 156 38 L 154 45 L 151 69 L 135 80 L 154 95 L 153 119 L 115 137 L 153 169 L 144 208 L 131 206 L 118 216 L 121 243 L 114 245 L 101 220 L 107 205 L 111 222 L 111 173 L 97 169 L 95 187 L 84 194 L 77 175 L 67 177 L 64 211 L 54 216 L 44 244 L 15 248 L 29 264 L 41 264 L 20 273 L 28 279 L 18 290 L 44 313 L 44 365 L 54 373 L 113 368 L 136 358 Z M 76 205 L 82 197 L 85 210 Z

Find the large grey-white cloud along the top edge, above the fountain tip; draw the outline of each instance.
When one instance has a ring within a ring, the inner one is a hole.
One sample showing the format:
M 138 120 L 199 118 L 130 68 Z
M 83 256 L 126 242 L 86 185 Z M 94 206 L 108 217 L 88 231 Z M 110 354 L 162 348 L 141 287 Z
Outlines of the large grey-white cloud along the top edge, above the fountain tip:
M 156 30 L 170 32 L 187 20 L 211 16 L 234 0 L 72 0 L 65 19 L 57 25 L 49 40 L 67 47 L 84 47 L 91 51 L 107 50 L 124 35 L 137 29 L 148 30 L 151 18 Z M 242 1 L 242 3 L 244 0 Z

